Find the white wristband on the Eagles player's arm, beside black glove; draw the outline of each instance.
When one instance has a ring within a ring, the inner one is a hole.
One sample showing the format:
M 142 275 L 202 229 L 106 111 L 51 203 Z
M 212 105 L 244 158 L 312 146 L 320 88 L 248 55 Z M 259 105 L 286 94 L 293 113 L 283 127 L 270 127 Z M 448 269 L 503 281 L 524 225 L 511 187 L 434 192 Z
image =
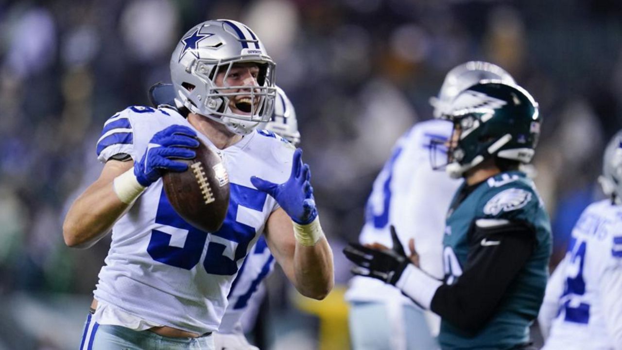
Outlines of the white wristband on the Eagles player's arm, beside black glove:
M 427 275 L 415 265 L 408 264 L 395 286 L 422 308 L 430 310 L 432 298 L 442 284 L 442 281 Z

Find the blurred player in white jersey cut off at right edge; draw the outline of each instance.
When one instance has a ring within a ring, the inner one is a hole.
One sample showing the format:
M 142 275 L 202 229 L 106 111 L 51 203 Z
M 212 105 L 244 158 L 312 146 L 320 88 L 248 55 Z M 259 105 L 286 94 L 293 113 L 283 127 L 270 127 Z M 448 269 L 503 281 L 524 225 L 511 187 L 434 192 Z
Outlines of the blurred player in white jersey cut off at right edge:
M 622 349 L 622 131 L 599 180 L 609 198 L 583 211 L 547 285 L 538 316 L 545 350 Z

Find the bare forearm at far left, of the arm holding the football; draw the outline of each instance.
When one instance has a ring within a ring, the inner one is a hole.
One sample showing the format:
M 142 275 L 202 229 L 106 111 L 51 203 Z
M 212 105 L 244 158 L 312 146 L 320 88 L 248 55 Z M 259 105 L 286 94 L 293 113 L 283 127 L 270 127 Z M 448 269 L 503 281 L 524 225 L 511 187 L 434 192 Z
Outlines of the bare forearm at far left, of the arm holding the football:
M 128 207 L 119 200 L 112 182 L 95 182 L 73 202 L 65 216 L 65 244 L 76 248 L 90 247 L 112 229 Z

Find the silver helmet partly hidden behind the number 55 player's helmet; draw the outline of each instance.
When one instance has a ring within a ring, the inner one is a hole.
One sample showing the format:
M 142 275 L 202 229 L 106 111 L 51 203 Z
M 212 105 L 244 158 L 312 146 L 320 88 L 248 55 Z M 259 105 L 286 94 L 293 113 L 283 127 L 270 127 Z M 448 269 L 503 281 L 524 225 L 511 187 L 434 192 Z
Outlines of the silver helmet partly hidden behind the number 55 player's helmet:
M 296 120 L 294 105 L 287 98 L 282 88 L 276 87 L 276 102 L 274 103 L 274 115 L 267 123 L 261 123 L 257 128 L 272 131 L 282 136 L 285 140 L 297 146 L 300 143 L 300 132 Z

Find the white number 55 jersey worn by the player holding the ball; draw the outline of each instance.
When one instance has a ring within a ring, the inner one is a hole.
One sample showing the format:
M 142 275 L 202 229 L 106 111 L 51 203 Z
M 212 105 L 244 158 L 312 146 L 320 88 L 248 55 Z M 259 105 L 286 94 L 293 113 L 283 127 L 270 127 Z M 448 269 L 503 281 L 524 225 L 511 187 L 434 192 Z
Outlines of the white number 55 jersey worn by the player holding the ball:
M 137 161 L 152 136 L 174 124 L 192 128 L 177 111 L 129 107 L 104 124 L 98 158 L 105 162 L 127 153 Z M 213 146 L 202 134 L 198 137 Z M 167 200 L 161 179 L 151 184 L 114 224 L 95 298 L 148 324 L 198 334 L 216 331 L 231 282 L 278 208 L 250 178 L 287 181 L 293 152 L 279 138 L 257 132 L 218 150 L 229 175 L 230 204 L 221 229 L 211 234 L 182 220 Z

